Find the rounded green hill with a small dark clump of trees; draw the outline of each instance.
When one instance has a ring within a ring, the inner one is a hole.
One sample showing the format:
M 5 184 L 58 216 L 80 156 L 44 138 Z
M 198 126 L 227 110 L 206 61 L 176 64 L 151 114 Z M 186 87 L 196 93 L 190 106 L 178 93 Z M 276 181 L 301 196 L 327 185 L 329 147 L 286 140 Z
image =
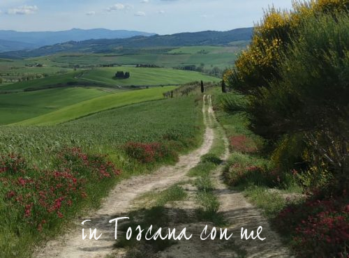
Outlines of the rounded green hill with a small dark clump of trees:
M 113 79 L 118 70 L 131 73 L 128 79 Z M 202 75 L 201 73 L 166 69 L 166 68 L 134 68 L 134 67 L 114 67 L 96 68 L 93 70 L 80 70 L 66 73 L 64 75 L 54 75 L 43 79 L 34 79 L 27 82 L 17 82 L 1 86 L 0 93 L 13 91 L 36 91 L 40 89 L 64 88 L 71 86 L 98 86 L 117 87 L 120 86 L 161 86 L 185 84 L 204 80 L 205 82 L 218 82 L 218 78 Z

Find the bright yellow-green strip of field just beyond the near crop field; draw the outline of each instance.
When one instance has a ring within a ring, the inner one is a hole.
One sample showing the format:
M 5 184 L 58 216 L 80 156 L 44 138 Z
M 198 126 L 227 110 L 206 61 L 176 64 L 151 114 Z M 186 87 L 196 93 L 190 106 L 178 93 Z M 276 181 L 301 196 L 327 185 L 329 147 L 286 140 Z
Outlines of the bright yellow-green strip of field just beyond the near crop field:
M 139 91 L 126 91 L 124 93 L 110 94 L 92 100 L 86 100 L 75 105 L 64 107 L 57 111 L 42 116 L 34 117 L 17 123 L 20 126 L 29 125 L 54 125 L 73 119 L 94 114 L 107 109 L 141 103 L 149 100 L 158 100 L 163 98 L 163 92 L 174 89 L 174 86 L 158 87 L 153 89 L 144 89 Z

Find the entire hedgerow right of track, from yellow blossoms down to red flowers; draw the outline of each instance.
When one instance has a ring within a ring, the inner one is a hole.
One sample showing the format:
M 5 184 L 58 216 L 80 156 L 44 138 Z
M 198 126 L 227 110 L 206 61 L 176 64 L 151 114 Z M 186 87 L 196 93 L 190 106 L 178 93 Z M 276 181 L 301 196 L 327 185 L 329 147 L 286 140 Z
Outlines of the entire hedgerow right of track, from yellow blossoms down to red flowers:
M 272 188 L 297 181 L 307 200 L 283 202 L 276 227 L 299 257 L 348 257 L 349 1 L 270 9 L 223 79 L 245 100 L 225 109 L 246 112 L 272 161 L 230 162 L 225 179 Z

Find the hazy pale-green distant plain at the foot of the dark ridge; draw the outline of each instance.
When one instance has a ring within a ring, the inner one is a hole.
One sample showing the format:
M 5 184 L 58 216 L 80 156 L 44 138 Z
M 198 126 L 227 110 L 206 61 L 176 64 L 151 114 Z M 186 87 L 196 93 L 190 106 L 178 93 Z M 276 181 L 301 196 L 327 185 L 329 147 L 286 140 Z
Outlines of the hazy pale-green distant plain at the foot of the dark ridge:
M 193 46 L 162 49 L 122 49 L 112 54 L 55 54 L 49 58 L 56 66 L 64 66 L 64 63 L 80 63 L 82 66 L 152 64 L 172 68 L 184 65 L 199 66 L 200 63 L 205 63 L 206 68 L 211 66 L 226 68 L 234 64 L 237 53 L 243 50 L 247 43 L 248 41 L 245 41 L 229 47 Z M 41 62 L 41 59 L 43 58 L 36 58 L 36 61 Z

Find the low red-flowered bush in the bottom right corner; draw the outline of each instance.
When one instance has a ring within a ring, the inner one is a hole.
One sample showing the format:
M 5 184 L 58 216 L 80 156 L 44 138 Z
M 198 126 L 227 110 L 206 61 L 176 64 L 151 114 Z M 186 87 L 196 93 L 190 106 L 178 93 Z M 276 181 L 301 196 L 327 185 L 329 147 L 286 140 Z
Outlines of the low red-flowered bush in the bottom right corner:
M 348 257 L 349 197 L 318 199 L 287 206 L 274 224 L 290 235 L 299 257 Z

